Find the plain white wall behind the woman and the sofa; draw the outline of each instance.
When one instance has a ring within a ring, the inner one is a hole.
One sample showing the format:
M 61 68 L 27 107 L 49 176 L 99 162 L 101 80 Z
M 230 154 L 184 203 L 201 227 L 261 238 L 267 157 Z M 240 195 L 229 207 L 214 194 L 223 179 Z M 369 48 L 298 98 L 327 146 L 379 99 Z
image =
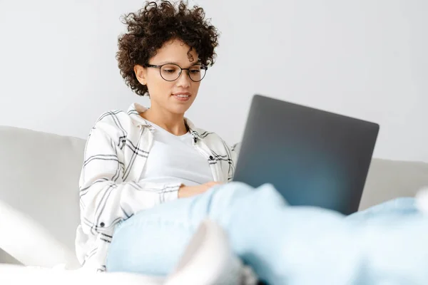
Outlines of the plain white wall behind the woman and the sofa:
M 373 120 L 376 157 L 428 162 L 428 1 L 198 3 L 222 36 L 195 123 L 238 141 L 262 93 Z M 147 104 L 114 58 L 119 16 L 142 4 L 1 0 L 0 125 L 86 138 L 103 111 Z

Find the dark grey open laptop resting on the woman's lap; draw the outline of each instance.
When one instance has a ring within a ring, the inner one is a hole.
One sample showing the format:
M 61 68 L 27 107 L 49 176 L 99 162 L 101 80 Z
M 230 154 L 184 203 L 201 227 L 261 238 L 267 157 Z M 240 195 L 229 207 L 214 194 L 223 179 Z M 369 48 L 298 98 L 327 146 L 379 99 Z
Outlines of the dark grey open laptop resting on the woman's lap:
M 292 206 L 360 207 L 379 125 L 254 95 L 233 181 L 272 184 Z

